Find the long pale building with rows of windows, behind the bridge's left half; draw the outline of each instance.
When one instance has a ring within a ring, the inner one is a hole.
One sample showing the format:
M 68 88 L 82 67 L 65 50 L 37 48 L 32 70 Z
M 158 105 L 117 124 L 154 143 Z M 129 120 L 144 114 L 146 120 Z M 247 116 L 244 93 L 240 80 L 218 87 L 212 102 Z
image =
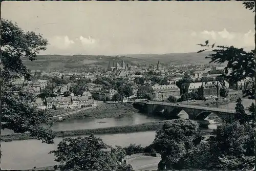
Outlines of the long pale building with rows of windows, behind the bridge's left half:
M 154 99 L 162 100 L 169 96 L 180 98 L 180 89 L 175 84 L 140 87 L 137 91 L 137 97 L 144 98 L 145 94 L 151 94 Z

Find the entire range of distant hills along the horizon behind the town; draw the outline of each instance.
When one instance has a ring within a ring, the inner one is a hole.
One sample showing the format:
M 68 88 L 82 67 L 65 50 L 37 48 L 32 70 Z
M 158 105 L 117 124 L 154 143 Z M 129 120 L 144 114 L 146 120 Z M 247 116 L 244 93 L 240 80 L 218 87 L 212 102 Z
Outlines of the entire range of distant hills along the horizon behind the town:
M 121 56 L 96 56 L 96 55 L 38 55 L 37 60 L 30 61 L 23 59 L 24 64 L 30 70 L 63 70 L 63 71 L 84 71 L 88 68 L 99 67 L 108 68 L 109 62 L 111 67 L 113 61 L 121 65 L 122 60 L 132 66 L 149 66 L 156 64 L 158 60 L 160 63 L 167 65 L 172 63 L 174 65 L 183 64 L 206 64 L 209 59 L 205 56 L 210 52 L 202 53 L 170 53 L 170 54 L 131 54 Z

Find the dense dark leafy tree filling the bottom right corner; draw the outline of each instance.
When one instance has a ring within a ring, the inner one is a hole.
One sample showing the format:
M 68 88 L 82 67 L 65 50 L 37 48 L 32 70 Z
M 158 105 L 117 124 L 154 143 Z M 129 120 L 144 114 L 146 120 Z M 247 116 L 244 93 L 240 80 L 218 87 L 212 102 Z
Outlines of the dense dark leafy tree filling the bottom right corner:
M 249 125 L 223 124 L 207 140 L 210 165 L 205 169 L 241 170 L 254 165 L 254 136 Z

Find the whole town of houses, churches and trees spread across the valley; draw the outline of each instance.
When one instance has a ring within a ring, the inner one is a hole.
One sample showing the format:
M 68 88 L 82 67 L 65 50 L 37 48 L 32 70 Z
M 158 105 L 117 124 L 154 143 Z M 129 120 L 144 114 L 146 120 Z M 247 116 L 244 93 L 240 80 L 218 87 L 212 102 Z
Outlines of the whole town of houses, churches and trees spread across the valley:
M 224 69 L 209 65 L 163 66 L 160 61 L 140 68 L 126 65 L 124 61 L 121 65 L 113 61 L 107 69 L 93 73 L 31 71 L 38 79 L 25 81 L 22 77 L 13 80 L 12 84 L 35 96 L 45 96 L 36 99 L 37 108 L 42 110 L 86 108 L 99 101 L 114 103 L 136 99 L 177 104 L 205 99 L 228 102 L 228 92 L 237 94 L 239 90 L 249 90 L 252 81 L 248 77 L 229 84 L 223 78 Z M 184 84 L 184 88 L 178 87 L 177 82 L 184 78 L 191 82 Z

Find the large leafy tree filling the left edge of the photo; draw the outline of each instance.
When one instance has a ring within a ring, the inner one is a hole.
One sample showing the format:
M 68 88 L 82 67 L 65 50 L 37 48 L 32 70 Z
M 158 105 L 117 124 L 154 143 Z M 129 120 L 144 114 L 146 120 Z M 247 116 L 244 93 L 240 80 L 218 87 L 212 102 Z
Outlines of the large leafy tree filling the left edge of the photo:
M 26 133 L 42 142 L 53 143 L 53 132 L 42 124 L 51 126 L 52 114 L 36 108 L 35 98 L 28 92 L 16 89 L 11 79 L 24 76 L 30 78 L 30 71 L 21 58 L 31 61 L 39 51 L 46 50 L 48 42 L 35 32 L 24 32 L 17 24 L 1 20 L 1 129 L 10 129 L 14 133 Z M 15 75 L 14 75 L 15 74 Z M 18 93 L 14 93 L 18 91 Z

